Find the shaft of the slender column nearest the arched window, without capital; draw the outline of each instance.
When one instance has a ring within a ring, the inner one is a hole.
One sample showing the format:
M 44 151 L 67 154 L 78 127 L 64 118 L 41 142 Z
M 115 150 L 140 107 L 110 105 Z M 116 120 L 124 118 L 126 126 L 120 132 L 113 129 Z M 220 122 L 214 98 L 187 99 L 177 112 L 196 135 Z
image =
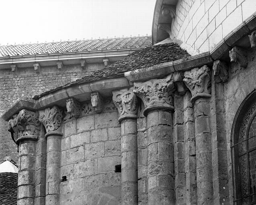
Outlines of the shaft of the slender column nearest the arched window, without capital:
M 197 204 L 213 203 L 209 98 L 195 100 L 195 145 L 197 160 Z

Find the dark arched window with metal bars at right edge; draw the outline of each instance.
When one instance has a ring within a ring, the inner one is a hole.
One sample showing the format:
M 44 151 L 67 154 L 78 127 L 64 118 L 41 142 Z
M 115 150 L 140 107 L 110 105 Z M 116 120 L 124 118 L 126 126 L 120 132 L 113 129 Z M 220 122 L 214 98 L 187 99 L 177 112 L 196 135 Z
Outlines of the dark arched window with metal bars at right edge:
M 256 91 L 238 109 L 232 136 L 234 204 L 256 205 Z

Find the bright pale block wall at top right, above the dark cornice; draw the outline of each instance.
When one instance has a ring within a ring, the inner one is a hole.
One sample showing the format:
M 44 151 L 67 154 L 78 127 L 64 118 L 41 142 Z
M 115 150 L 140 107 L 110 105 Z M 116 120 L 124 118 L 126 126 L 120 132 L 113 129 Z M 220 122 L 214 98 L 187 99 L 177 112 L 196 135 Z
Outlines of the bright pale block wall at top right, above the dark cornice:
M 172 34 L 207 52 L 255 11 L 254 0 L 179 0 Z

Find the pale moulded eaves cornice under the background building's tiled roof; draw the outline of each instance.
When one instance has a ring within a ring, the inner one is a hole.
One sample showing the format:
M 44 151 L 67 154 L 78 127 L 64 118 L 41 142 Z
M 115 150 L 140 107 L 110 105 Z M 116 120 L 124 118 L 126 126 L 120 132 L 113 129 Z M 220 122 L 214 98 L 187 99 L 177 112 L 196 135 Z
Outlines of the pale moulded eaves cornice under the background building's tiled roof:
M 40 63 L 42 66 L 56 65 L 56 61 L 66 61 L 68 64 L 79 64 L 80 60 L 90 62 L 102 62 L 103 58 L 109 58 L 109 61 L 116 61 L 119 58 L 127 56 L 140 48 L 119 48 L 111 50 L 90 50 L 77 52 L 63 52 L 51 54 L 34 54 L 22 56 L 0 57 L 0 69 L 10 68 L 11 64 L 17 64 L 19 67 L 33 66 L 34 63 Z

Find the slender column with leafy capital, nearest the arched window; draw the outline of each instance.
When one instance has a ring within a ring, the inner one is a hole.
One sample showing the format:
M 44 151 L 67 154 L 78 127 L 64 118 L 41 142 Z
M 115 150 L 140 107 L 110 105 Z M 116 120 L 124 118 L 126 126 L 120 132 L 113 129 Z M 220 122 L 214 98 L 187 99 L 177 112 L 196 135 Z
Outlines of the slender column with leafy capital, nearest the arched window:
M 213 204 L 212 150 L 210 129 L 211 75 L 207 66 L 184 73 L 183 81 L 192 93 L 195 106 L 195 145 L 197 165 L 197 204 Z

